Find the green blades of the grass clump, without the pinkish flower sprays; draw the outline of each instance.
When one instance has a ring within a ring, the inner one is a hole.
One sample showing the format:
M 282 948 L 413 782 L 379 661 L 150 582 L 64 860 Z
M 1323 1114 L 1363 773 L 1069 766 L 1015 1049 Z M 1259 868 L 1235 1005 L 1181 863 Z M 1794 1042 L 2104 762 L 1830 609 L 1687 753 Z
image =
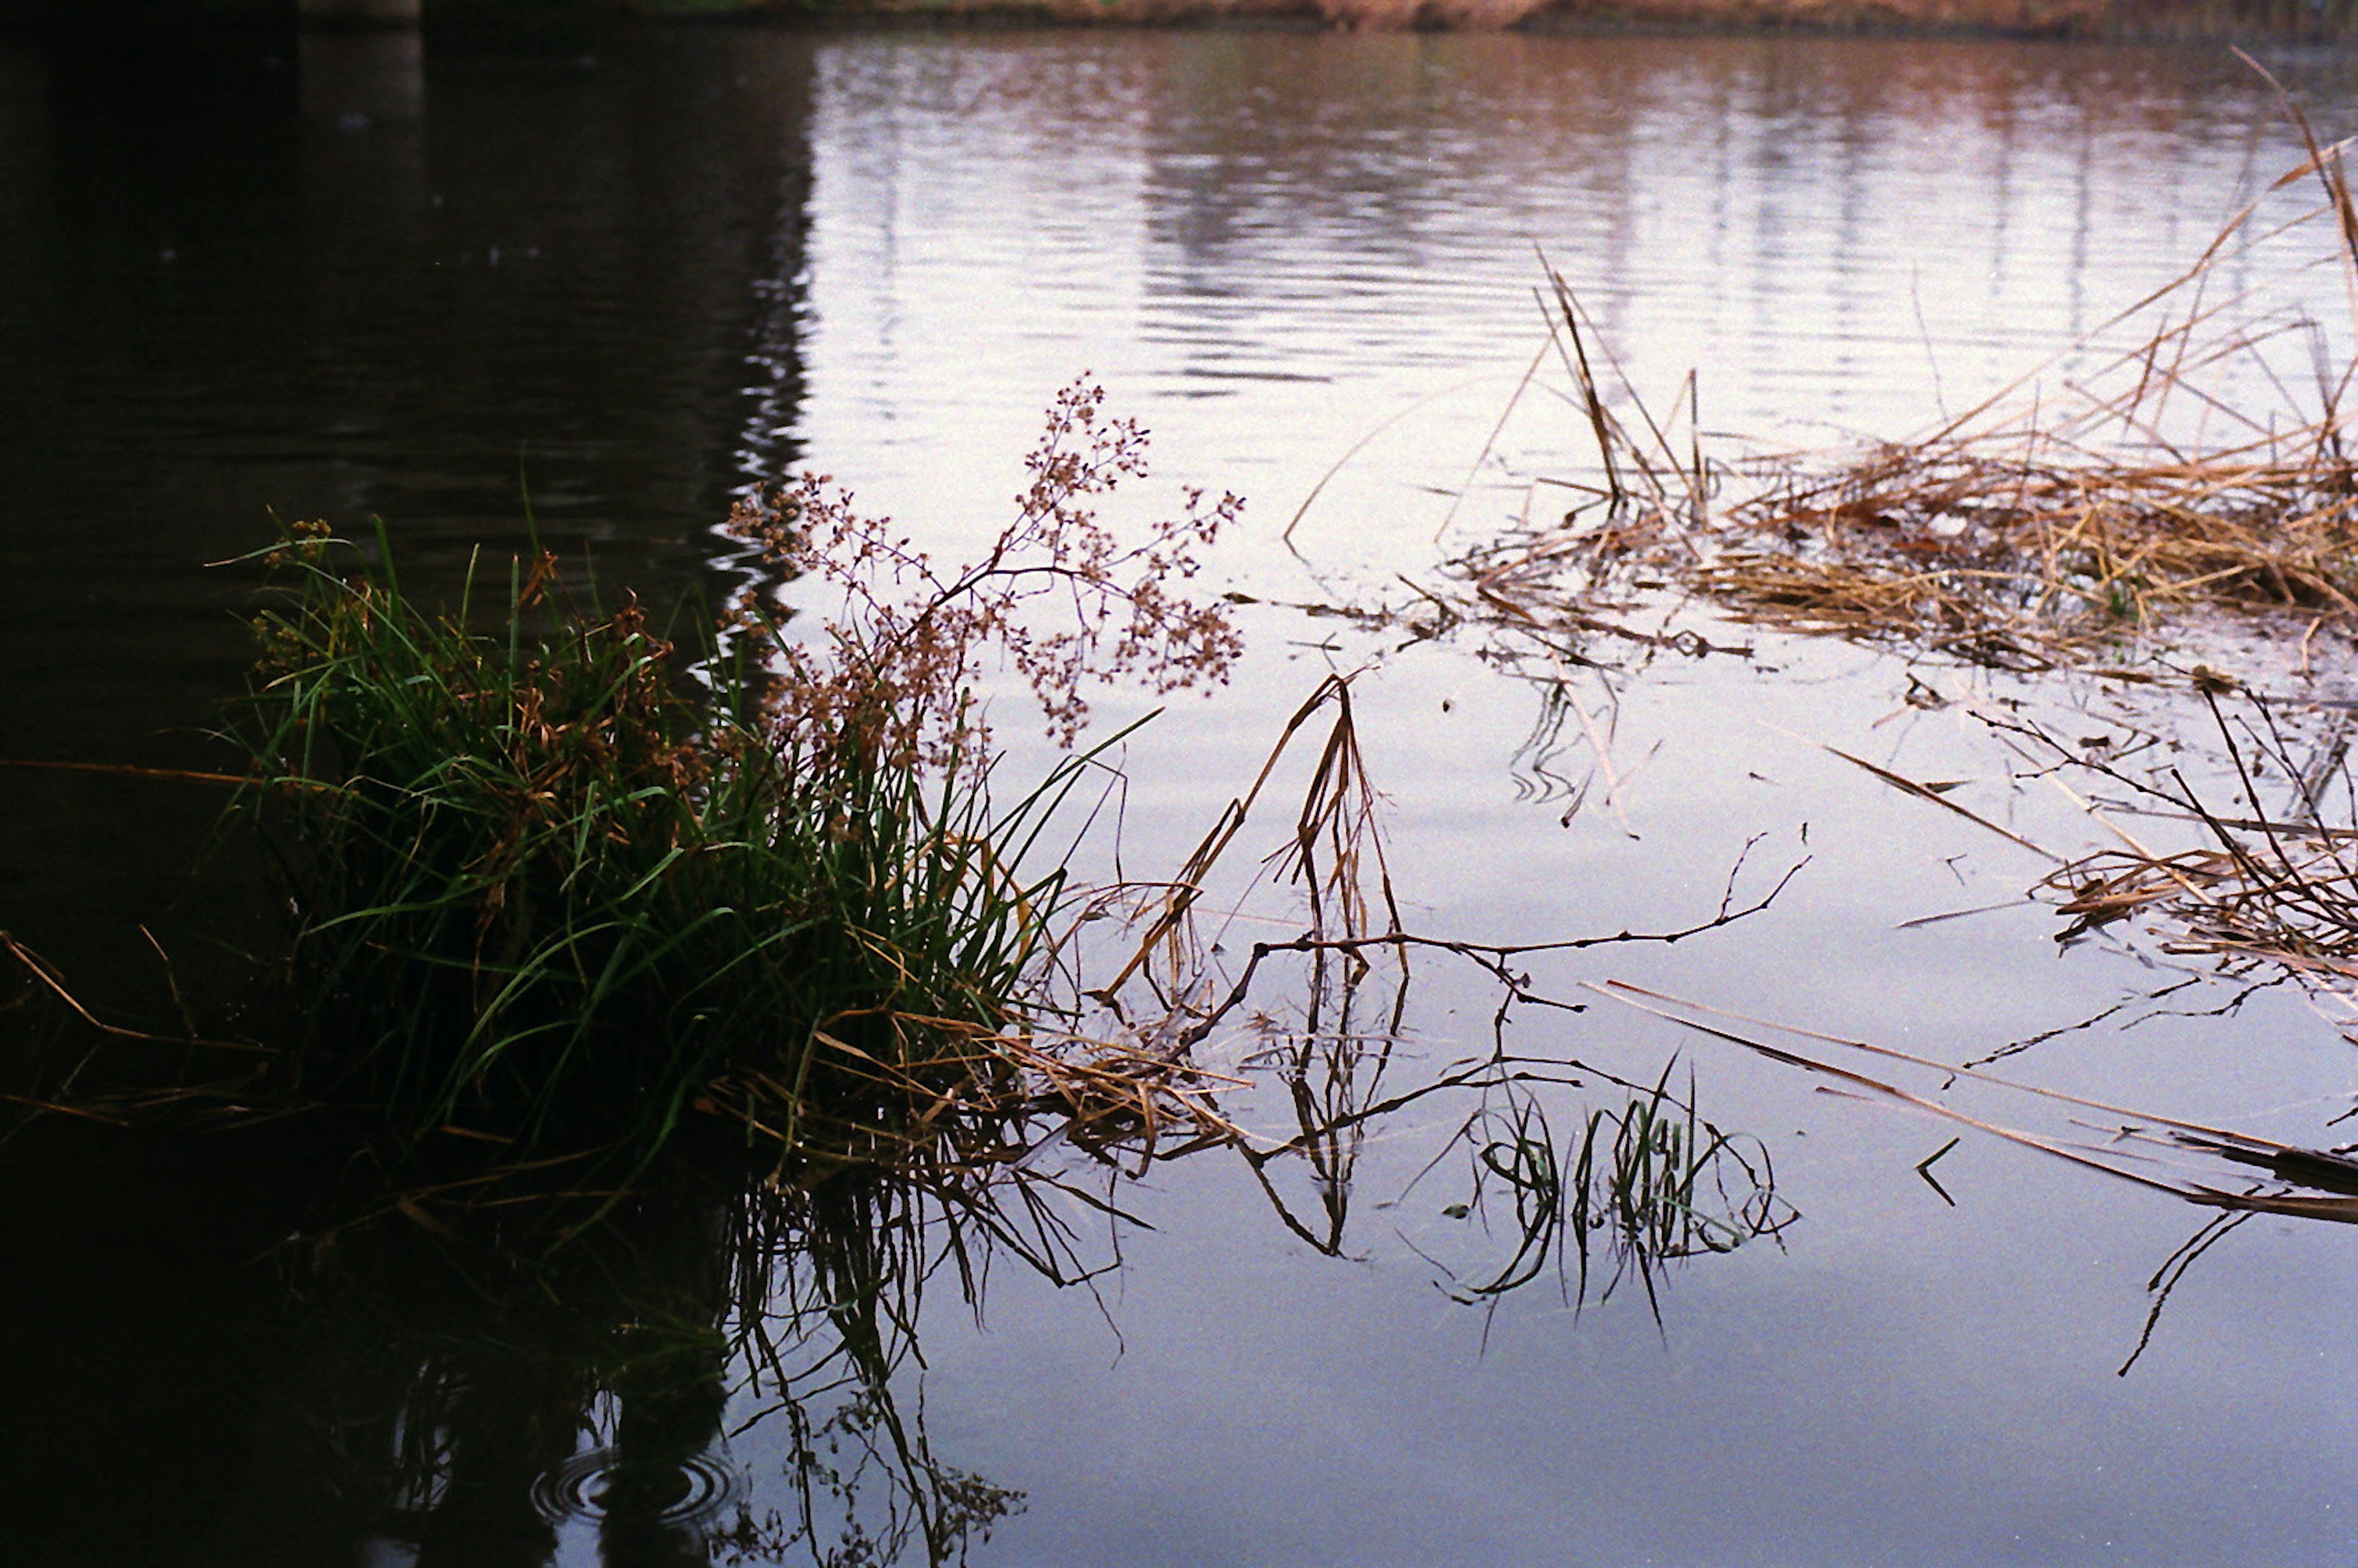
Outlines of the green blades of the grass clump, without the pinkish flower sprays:
M 236 726 L 311 1092 L 502 1137 L 663 1137 L 698 1103 L 790 1137 L 814 1096 L 993 1075 L 1063 889 L 1009 868 L 1042 795 L 993 816 L 979 769 L 696 691 L 552 556 L 479 627 L 332 549 L 276 552 Z

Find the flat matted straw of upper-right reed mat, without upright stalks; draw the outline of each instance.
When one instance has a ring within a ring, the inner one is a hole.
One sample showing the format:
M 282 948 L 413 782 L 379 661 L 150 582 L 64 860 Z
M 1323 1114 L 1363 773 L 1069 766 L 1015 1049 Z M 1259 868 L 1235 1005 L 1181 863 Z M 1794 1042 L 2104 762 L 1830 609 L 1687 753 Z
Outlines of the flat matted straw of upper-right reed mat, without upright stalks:
M 2176 462 L 2082 455 L 2075 436 L 1950 436 L 1785 472 L 1728 509 L 1686 582 L 1747 620 L 2004 667 L 2209 611 L 2358 611 L 2339 415 Z

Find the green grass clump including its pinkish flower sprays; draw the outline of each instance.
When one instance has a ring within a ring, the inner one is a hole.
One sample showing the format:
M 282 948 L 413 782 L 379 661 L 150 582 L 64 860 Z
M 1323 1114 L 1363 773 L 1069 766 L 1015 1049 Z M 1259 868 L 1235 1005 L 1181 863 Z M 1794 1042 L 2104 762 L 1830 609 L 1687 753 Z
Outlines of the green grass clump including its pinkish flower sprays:
M 1184 582 L 1240 502 L 1118 538 L 1089 502 L 1146 434 L 1101 403 L 1056 396 L 960 566 L 823 479 L 747 498 L 766 587 L 693 667 L 549 554 L 434 611 L 288 533 L 233 736 L 288 875 L 302 1094 L 641 1148 L 691 1113 L 795 1148 L 814 1118 L 927 1139 L 1021 1103 L 1068 882 L 1019 868 L 1089 757 L 993 806 L 976 689 L 1012 672 L 1071 747 L 1085 689 L 1217 684 L 1238 651 Z

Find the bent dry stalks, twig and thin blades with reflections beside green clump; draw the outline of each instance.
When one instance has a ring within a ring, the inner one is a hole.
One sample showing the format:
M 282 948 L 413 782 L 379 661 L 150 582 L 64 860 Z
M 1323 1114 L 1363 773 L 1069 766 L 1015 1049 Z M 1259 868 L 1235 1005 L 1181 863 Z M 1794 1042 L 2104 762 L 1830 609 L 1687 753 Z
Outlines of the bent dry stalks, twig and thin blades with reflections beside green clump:
M 1535 988 L 1526 969 L 1533 960 L 1601 946 L 1677 943 L 1735 924 L 1768 908 L 1799 865 L 1757 898 L 1738 903 L 1745 870 L 1740 858 L 1728 872 L 1719 908 L 1684 929 L 1622 929 L 1611 936 L 1507 946 L 1408 931 L 1391 896 L 1377 818 L 1368 809 L 1372 783 L 1351 719 L 1349 686 L 1337 681 L 1328 686 L 1337 703 L 1335 729 L 1320 750 L 1320 766 L 1292 842 L 1273 856 L 1273 863 L 1306 891 L 1311 929 L 1290 941 L 1252 943 L 1250 957 L 1224 990 L 1207 988 L 1205 955 L 1184 955 L 1179 967 L 1158 979 L 1158 988 L 1170 995 L 1217 997 L 1184 1002 L 1193 1021 L 1181 1040 L 1193 1045 L 1247 1007 L 1271 964 L 1290 955 L 1304 967 L 1299 1002 L 1290 1004 L 1290 1012 L 1299 1009 L 1295 1019 L 1280 1021 L 1271 1012 L 1254 1012 L 1250 1019 L 1252 1035 L 1264 1042 L 1252 1061 L 1273 1066 L 1285 1085 L 1292 1101 L 1292 1137 L 1262 1141 L 1233 1122 L 1198 1122 L 1198 1129 L 1210 1134 L 1203 1141 L 1233 1146 L 1278 1219 L 1318 1252 L 1342 1254 L 1361 1139 L 1403 1118 L 1412 1106 L 1445 1096 L 1476 1099 L 1474 1113 L 1443 1137 L 1424 1165 L 1424 1172 L 1431 1172 L 1460 1153 L 1471 1155 L 1474 1191 L 1464 1203 L 1448 1205 L 1443 1210 L 1448 1217 L 1471 1219 L 1481 1212 L 1488 1221 L 1490 1205 L 1511 1210 L 1500 1221 L 1514 1238 L 1502 1266 L 1481 1273 L 1476 1283 L 1464 1283 L 1462 1271 L 1434 1259 L 1453 1280 L 1448 1292 L 1469 1304 L 1497 1302 L 1549 1271 L 1573 1299 L 1585 1302 L 1592 1290 L 1601 1299 L 1632 1273 L 1653 1299 L 1660 1264 L 1733 1252 L 1745 1240 L 1783 1231 L 1794 1210 L 1776 1193 L 1768 1148 L 1759 1139 L 1705 1122 L 1695 1111 L 1693 1089 L 1686 1099 L 1669 1092 L 1667 1068 L 1648 1089 L 1568 1056 L 1514 1052 L 1507 1047 L 1504 1028 L 1523 1007 L 1582 1012 L 1580 1004 L 1566 1004 Z M 1313 707 L 1316 703 L 1297 712 L 1287 733 L 1295 733 Z M 1280 743 L 1278 752 L 1283 750 Z M 1269 766 L 1276 762 L 1273 755 Z M 1264 783 L 1269 766 L 1262 771 Z M 1229 806 L 1184 875 L 1184 887 L 1193 889 L 1200 882 L 1219 849 L 1243 825 L 1250 804 L 1247 792 Z M 1365 887 L 1370 879 L 1375 896 Z M 1181 915 L 1184 910 L 1165 905 L 1162 920 Z M 1375 915 L 1382 915 L 1384 924 L 1377 924 Z M 1162 924 L 1151 927 L 1148 946 L 1132 967 L 1144 962 L 1144 953 L 1155 946 L 1155 931 L 1162 929 Z M 1490 1052 L 1438 1073 L 1403 1073 L 1394 1045 L 1408 1033 L 1412 953 L 1471 964 L 1497 986 Z M 1365 1004 L 1372 981 L 1375 990 L 1389 990 L 1389 997 L 1372 1009 L 1375 1016 Z M 1580 1132 L 1561 1137 L 1547 1115 L 1549 1089 L 1580 1089 L 1592 1080 L 1629 1089 L 1632 1099 L 1618 1108 L 1587 1108 Z M 1200 1141 L 1186 1144 L 1174 1155 L 1198 1146 Z M 1299 1195 L 1287 1195 L 1292 1186 L 1283 1179 L 1287 1167 L 1309 1179 L 1309 1205 Z M 1410 1186 L 1422 1179 L 1420 1174 Z M 1592 1271 L 1603 1271 L 1601 1285 Z

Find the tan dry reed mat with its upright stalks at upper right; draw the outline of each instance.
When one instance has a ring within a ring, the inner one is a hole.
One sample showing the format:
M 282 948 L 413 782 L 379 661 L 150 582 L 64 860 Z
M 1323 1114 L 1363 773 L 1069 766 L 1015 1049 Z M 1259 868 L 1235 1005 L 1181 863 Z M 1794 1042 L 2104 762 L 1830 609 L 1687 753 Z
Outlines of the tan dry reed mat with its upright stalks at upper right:
M 2016 670 L 2115 655 L 2202 615 L 2351 625 L 2351 365 L 2299 297 L 2266 299 L 2358 257 L 2341 146 L 2301 134 L 2306 163 L 2271 191 L 2316 182 L 2320 203 L 2273 222 L 2268 198 L 2252 200 L 2184 276 L 2044 368 L 2070 373 L 2061 398 L 2009 413 L 2023 377 L 1922 439 L 1830 462 L 1707 462 L 1693 377 L 1662 420 L 1627 377 L 1608 396 L 1603 340 L 1552 276 L 1542 304 L 1599 453 L 1596 481 L 1573 488 L 1594 500 L 1457 561 L 1464 615 L 1519 634 L 1615 630 L 1599 611 L 1655 578 L 1738 620 Z M 2287 269 L 2294 231 L 2316 224 L 2330 248 Z M 2290 356 L 2313 391 L 2292 391 Z M 2238 406 L 2250 389 L 2283 408 Z

